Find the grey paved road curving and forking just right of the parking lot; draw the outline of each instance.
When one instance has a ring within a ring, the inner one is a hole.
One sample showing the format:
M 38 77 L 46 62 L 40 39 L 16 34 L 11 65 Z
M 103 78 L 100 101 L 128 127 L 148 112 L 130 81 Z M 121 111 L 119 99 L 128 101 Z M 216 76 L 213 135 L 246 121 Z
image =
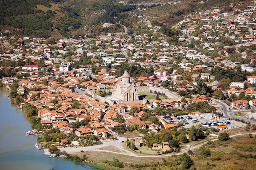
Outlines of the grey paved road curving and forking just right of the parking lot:
M 247 119 L 243 116 L 235 116 L 233 113 L 237 113 L 237 112 L 249 112 L 249 111 L 229 111 L 229 107 L 226 103 L 220 101 L 220 100 L 216 100 L 216 99 L 213 99 L 216 103 L 220 104 L 222 106 L 222 110 L 223 110 L 223 113 L 225 115 L 226 118 L 230 117 L 230 119 L 234 119 L 234 118 L 237 118 L 237 119 L 241 119 L 241 120 L 244 120 L 245 122 L 250 122 L 251 124 L 255 124 L 256 122 L 254 120 L 250 120 L 250 119 Z M 256 110 L 253 110 L 253 111 L 256 111 Z

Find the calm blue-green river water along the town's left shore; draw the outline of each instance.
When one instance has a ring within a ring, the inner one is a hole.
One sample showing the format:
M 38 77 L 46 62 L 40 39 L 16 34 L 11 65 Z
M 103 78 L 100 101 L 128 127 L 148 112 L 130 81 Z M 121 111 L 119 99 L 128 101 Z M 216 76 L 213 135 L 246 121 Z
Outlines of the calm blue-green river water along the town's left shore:
M 8 95 L 0 88 L 0 170 L 95 170 L 63 158 L 49 158 L 43 150 L 36 150 L 37 137 L 26 136 L 26 131 L 32 130 L 29 121 L 11 105 Z

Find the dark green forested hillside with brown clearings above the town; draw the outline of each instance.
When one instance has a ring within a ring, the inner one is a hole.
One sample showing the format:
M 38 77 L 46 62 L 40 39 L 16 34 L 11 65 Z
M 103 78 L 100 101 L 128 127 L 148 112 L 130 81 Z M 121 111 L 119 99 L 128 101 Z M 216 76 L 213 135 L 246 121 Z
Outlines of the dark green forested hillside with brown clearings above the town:
M 98 34 L 106 31 L 102 23 L 121 23 L 132 29 L 137 8 L 147 8 L 140 14 L 172 26 L 199 9 L 224 8 L 236 1 L 241 0 L 183 0 L 176 4 L 171 4 L 174 0 L 127 0 L 125 5 L 119 0 L 1 0 L 0 30 L 7 36 L 48 38 Z

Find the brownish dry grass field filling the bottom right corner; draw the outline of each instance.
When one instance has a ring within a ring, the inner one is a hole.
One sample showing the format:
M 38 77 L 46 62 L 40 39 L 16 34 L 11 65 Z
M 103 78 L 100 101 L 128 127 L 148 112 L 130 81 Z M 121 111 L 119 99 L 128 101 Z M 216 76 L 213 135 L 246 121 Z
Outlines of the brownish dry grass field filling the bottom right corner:
M 211 156 L 207 158 L 191 158 L 197 170 L 255 170 L 255 159 L 248 157 L 249 154 L 256 154 L 255 143 L 256 138 L 249 138 L 248 135 L 236 136 L 228 141 L 206 145 L 211 150 Z

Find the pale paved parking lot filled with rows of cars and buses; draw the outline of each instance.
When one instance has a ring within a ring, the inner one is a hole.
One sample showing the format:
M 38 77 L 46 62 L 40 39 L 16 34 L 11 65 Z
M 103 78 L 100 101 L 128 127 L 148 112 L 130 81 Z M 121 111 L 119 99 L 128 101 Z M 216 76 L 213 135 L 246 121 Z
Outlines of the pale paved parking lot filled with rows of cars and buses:
M 175 123 L 175 124 L 183 123 L 185 128 L 189 128 L 192 125 L 194 125 L 194 126 L 201 125 L 201 123 L 206 123 L 206 122 L 213 122 L 213 121 L 222 122 L 222 121 L 226 120 L 226 118 L 223 118 L 223 119 L 218 118 L 217 119 L 216 117 L 213 120 L 211 113 L 204 113 L 203 115 L 205 116 L 205 118 L 202 118 L 202 119 L 200 119 L 199 116 L 195 116 L 195 115 L 191 115 L 191 118 L 188 119 L 188 115 L 183 115 L 183 116 L 177 116 L 177 117 L 174 117 L 174 116 L 169 116 L 168 117 L 167 116 L 167 117 L 164 118 L 164 120 L 166 122 Z M 180 119 L 182 119 L 182 121 Z M 197 121 L 199 121 L 199 122 L 197 122 Z M 233 129 L 233 128 L 242 127 L 242 126 L 246 125 L 244 123 L 237 122 L 237 121 L 234 121 L 234 120 L 231 120 L 230 123 L 231 123 L 230 125 L 227 125 L 227 129 Z M 218 124 L 221 124 L 221 123 L 218 123 Z M 209 126 L 209 127 L 214 127 L 216 129 L 219 129 L 219 130 L 224 130 L 224 128 L 217 128 L 216 125 Z

